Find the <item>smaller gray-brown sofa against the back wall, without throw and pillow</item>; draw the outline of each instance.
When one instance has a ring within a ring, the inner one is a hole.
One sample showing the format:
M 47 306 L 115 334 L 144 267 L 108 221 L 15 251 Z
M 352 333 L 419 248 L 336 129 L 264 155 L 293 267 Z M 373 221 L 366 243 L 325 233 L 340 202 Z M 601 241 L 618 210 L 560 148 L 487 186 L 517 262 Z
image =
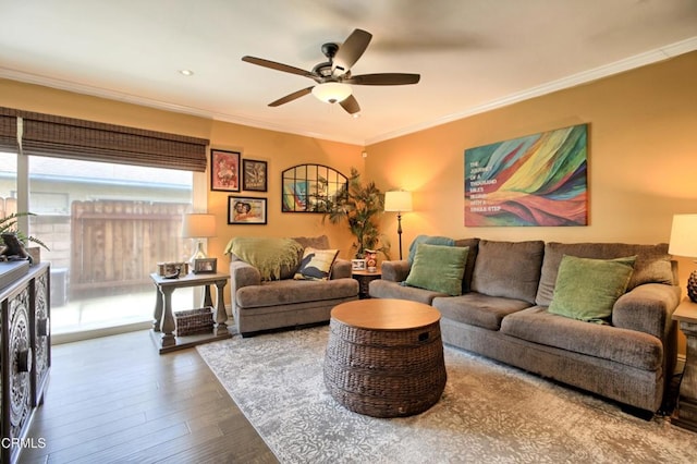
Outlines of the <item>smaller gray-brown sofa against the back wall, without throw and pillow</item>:
M 328 249 L 329 240 L 294 237 L 303 248 Z M 337 259 L 329 280 L 294 280 L 286 269 L 279 280 L 262 280 L 259 269 L 231 256 L 231 309 L 243 337 L 273 329 L 327 322 L 331 309 L 358 298 L 358 282 L 352 279 L 351 261 Z

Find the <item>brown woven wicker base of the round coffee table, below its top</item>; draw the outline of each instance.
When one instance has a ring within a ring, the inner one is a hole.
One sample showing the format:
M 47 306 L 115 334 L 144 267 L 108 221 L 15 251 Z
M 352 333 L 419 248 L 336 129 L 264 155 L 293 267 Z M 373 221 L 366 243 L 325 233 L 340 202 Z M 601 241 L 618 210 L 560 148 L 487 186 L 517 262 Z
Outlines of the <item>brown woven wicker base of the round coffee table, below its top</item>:
M 325 356 L 325 384 L 346 408 L 374 417 L 423 413 L 440 400 L 447 374 L 440 323 L 366 330 L 335 319 Z

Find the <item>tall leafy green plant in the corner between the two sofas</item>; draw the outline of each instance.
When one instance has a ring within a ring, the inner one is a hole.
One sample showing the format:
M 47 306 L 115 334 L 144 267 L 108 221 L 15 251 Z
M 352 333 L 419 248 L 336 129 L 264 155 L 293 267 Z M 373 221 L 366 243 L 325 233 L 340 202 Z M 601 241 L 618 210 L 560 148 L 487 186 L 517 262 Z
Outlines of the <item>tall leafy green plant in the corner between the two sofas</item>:
M 351 168 L 351 176 L 346 187 L 342 187 L 335 198 L 329 199 L 325 218 L 331 223 L 343 221 L 348 223 L 351 233 L 356 237 L 353 243 L 356 258 L 364 258 L 366 251 L 382 253 L 390 259 L 390 244 L 380 233 L 378 218 L 384 206 L 384 194 L 374 182 L 363 184 L 360 173 Z

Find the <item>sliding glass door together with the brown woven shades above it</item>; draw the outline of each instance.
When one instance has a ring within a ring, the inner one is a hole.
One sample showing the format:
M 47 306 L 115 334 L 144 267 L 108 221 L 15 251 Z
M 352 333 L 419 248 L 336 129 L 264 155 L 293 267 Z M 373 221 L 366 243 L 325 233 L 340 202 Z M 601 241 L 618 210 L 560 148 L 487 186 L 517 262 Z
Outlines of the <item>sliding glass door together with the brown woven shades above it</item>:
M 20 225 L 50 248 L 41 260 L 51 262 L 53 334 L 151 322 L 149 273 L 192 254 L 181 222 L 207 145 L 0 107 L 1 212 L 37 215 Z M 188 308 L 192 294 L 173 298 Z

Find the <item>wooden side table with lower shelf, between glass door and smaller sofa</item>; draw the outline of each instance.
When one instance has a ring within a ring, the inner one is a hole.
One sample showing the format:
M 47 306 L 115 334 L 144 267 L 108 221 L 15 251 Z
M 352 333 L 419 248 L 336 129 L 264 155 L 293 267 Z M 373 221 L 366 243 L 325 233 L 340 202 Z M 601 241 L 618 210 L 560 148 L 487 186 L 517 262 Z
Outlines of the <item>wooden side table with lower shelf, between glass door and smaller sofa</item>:
M 225 302 L 223 288 L 230 279 L 227 273 L 188 273 L 176 279 L 167 279 L 163 276 L 152 272 L 150 279 L 157 288 L 155 300 L 155 316 L 152 320 L 152 339 L 158 345 L 160 354 L 175 350 L 183 350 L 197 344 L 223 340 L 232 337 L 228 329 L 228 315 L 225 313 Z M 203 306 L 213 306 L 210 296 L 210 285 L 216 285 L 217 304 L 215 307 L 215 327 L 212 333 L 193 334 L 186 337 L 174 335 L 174 315 L 172 314 L 172 293 L 176 289 L 185 286 L 204 286 Z

